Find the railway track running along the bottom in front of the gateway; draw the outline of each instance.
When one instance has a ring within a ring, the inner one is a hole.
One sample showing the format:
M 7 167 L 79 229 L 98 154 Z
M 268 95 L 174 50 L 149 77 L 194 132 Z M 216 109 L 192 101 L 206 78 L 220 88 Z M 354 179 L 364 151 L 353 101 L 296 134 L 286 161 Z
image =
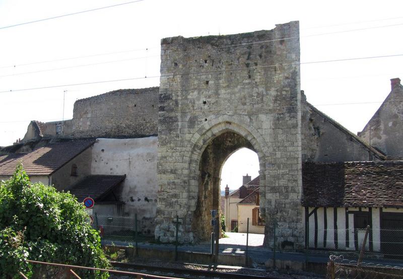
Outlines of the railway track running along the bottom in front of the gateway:
M 259 276 L 251 274 L 239 274 L 239 273 L 227 273 L 220 271 L 211 270 L 198 270 L 190 268 L 176 268 L 176 267 L 165 267 L 165 266 L 152 266 L 152 265 L 142 265 L 135 263 L 121 263 L 121 262 L 111 262 L 114 268 L 120 270 L 141 270 L 142 273 L 148 273 L 157 275 L 158 272 L 160 276 L 169 276 L 175 278 L 232 278 L 232 279 L 261 279 L 261 278 L 272 278 L 277 277 L 270 276 Z M 118 277 L 116 277 L 118 278 Z

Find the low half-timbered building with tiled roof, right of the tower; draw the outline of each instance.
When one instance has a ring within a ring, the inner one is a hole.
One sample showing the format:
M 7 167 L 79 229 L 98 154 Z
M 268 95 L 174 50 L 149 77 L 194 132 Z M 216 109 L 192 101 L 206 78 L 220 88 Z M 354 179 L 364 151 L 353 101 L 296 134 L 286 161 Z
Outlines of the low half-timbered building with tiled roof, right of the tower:
M 304 163 L 306 247 L 403 255 L 403 161 Z

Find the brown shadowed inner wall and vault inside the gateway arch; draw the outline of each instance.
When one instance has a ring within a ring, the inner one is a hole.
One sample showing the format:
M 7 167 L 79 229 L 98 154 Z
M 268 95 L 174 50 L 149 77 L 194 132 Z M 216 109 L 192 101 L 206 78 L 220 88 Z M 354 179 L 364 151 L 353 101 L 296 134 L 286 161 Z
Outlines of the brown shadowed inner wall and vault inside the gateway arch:
M 242 135 L 225 131 L 211 140 L 199 161 L 198 195 L 192 219 L 192 231 L 198 240 L 209 240 L 212 232 L 210 211 L 221 211 L 221 171 L 227 159 L 237 150 L 253 146 Z M 223 213 L 222 213 L 223 214 Z

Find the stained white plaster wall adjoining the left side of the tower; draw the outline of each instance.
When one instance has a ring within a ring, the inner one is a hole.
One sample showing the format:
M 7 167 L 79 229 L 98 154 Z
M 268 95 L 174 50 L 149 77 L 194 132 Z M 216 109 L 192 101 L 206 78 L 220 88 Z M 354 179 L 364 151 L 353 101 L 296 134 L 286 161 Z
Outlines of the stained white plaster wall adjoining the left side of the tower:
M 143 138 L 98 138 L 92 148 L 91 174 L 126 175 L 120 191 L 123 216 L 138 214 L 144 233 L 154 231 L 157 208 L 156 136 Z

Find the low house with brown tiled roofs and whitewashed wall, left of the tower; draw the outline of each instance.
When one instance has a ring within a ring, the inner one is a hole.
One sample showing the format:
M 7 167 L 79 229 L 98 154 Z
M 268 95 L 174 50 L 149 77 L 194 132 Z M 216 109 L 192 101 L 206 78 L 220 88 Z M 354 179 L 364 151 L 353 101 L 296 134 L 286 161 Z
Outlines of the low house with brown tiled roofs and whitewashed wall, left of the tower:
M 0 179 L 8 179 L 22 164 L 31 182 L 70 191 L 80 202 L 92 197 L 94 215 L 138 214 L 139 229 L 148 234 L 154 230 L 157 137 L 65 139 L 51 143 L 40 138 L 7 150 L 11 148 L 33 150 L 1 155 Z

